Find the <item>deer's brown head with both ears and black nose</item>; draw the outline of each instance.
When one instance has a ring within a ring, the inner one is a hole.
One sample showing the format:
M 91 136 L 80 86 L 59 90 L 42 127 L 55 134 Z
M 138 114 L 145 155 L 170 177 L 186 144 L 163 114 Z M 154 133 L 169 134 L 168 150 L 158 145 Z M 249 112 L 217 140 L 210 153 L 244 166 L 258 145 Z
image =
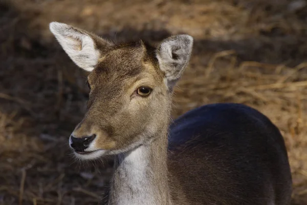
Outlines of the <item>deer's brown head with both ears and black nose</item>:
M 171 36 L 155 48 L 142 40 L 115 45 L 62 23 L 51 23 L 50 30 L 74 63 L 89 71 L 86 113 L 70 136 L 78 158 L 126 152 L 165 130 L 173 86 L 191 55 L 191 36 Z

